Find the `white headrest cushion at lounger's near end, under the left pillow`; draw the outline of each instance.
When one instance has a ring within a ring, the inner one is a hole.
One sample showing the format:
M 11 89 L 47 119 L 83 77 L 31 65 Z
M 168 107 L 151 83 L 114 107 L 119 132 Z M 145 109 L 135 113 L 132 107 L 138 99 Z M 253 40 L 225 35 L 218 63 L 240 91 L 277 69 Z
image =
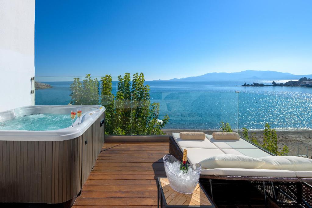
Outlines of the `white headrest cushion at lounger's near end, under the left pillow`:
M 296 174 L 293 171 L 244 168 L 215 168 L 201 170 L 200 174 L 208 176 L 296 177 Z

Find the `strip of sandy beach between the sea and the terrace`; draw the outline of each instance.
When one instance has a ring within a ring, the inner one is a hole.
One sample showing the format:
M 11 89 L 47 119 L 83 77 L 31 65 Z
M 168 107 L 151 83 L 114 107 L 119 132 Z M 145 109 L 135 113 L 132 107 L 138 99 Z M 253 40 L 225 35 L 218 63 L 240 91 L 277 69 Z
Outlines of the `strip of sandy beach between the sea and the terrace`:
M 204 132 L 205 134 L 212 134 L 213 132 L 218 132 L 220 130 L 193 130 L 193 129 L 162 129 L 166 135 L 170 135 L 172 132 Z M 249 136 L 251 133 L 256 133 L 256 138 L 259 144 L 263 143 L 263 130 L 250 130 L 248 131 Z M 277 145 L 279 150 L 287 145 L 289 148 L 289 155 L 298 154 L 298 144 L 299 144 L 299 154 L 307 154 L 311 157 L 312 155 L 312 130 L 276 130 L 277 133 Z M 239 131 L 242 137 L 242 131 Z M 309 158 L 310 158 L 309 157 Z

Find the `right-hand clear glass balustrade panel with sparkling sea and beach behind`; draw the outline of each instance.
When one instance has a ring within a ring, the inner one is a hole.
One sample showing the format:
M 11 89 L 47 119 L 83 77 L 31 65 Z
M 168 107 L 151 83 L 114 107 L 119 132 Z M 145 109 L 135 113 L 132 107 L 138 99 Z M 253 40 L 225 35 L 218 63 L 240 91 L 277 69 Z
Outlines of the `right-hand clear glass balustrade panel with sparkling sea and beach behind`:
M 268 123 L 276 130 L 278 151 L 289 148 L 289 155 L 311 157 L 312 99 L 274 96 L 266 94 L 239 93 L 239 128 L 254 133 L 256 140 L 263 145 L 264 128 Z M 242 130 L 240 130 L 243 136 Z M 273 133 L 274 134 L 274 133 Z

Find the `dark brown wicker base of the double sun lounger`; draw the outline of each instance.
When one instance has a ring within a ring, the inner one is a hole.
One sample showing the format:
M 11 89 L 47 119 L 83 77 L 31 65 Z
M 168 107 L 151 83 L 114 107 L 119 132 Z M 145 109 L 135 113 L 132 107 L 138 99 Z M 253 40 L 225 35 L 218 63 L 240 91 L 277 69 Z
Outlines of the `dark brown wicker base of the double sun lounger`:
M 173 137 L 169 138 L 169 153 L 177 159 L 182 160 L 183 152 Z M 201 175 L 200 180 L 202 182 L 208 182 L 204 188 L 207 190 L 210 189 L 211 195 L 213 191 L 212 184 L 218 184 L 220 186 L 222 184 L 226 185 L 226 181 L 247 181 L 256 187 L 259 193 L 262 192 L 265 198 L 268 196 L 270 198 L 268 200 L 269 202 L 275 201 L 276 204 L 283 207 L 293 207 L 294 205 L 300 207 L 312 206 L 312 186 L 305 183 L 312 181 L 312 178 Z M 215 199 L 213 200 L 215 201 Z M 215 201 L 215 203 L 218 205 L 218 201 Z

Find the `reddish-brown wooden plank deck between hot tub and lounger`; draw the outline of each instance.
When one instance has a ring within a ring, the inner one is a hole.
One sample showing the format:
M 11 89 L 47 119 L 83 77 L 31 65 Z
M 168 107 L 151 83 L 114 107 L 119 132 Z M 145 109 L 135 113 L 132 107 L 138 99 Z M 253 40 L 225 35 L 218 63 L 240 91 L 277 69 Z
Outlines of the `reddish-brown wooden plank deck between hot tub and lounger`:
M 168 142 L 105 143 L 74 208 L 157 207 Z

